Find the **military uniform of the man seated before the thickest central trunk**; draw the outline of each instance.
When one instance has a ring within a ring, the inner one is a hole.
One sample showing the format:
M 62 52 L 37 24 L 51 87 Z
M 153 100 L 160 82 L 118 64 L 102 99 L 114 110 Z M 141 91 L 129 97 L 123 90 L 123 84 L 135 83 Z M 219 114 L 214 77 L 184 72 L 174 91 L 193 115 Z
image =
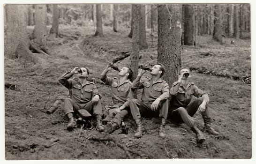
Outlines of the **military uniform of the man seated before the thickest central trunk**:
M 145 77 L 141 81 L 141 76 L 137 76 L 132 83 L 132 89 L 143 89 L 142 101 L 132 99 L 129 101 L 131 113 L 135 120 L 141 118 L 141 114 L 145 115 L 159 115 L 160 118 L 167 118 L 168 114 L 168 101 L 169 85 L 161 78 L 157 82 L 153 82 L 152 78 Z M 151 104 L 160 98 L 161 102 L 156 111 L 151 110 Z

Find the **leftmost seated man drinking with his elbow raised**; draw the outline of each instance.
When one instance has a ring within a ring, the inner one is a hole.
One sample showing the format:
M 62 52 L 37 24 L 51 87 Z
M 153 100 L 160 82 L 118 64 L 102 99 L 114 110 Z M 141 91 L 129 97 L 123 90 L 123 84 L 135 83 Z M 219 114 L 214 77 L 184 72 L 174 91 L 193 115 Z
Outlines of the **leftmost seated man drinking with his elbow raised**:
M 97 130 L 104 131 L 104 127 L 101 125 L 101 95 L 96 85 L 87 81 L 89 70 L 86 67 L 81 67 L 80 69 L 82 72 L 80 74 L 78 74 L 79 67 L 75 67 L 72 71 L 59 78 L 59 82 L 68 88 L 70 94 L 70 97 L 64 99 L 64 111 L 69 119 L 67 129 L 72 131 L 75 128 L 74 114 L 80 109 L 85 109 L 96 116 Z M 75 77 L 70 79 L 73 75 Z

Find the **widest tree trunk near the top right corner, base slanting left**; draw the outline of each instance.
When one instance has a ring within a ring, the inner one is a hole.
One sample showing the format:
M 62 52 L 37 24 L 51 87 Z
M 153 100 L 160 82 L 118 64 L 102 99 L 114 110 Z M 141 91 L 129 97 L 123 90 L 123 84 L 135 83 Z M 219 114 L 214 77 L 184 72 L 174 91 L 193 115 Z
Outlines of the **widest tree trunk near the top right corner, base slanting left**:
M 222 22 L 221 22 L 221 5 L 216 4 L 214 6 L 214 29 L 213 29 L 213 39 L 222 43 Z

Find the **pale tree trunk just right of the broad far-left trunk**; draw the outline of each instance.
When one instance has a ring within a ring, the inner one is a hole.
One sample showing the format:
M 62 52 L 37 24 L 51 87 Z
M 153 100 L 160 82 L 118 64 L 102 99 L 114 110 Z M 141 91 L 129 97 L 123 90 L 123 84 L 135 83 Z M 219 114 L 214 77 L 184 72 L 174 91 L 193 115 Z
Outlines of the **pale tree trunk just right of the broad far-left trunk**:
M 35 5 L 34 43 L 47 53 L 46 5 Z

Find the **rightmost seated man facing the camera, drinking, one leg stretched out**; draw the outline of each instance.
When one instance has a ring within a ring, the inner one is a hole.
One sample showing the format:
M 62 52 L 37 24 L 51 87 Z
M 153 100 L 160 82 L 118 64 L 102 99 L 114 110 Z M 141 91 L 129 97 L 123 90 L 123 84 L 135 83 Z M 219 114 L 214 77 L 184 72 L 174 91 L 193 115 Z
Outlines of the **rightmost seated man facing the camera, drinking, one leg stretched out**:
M 170 89 L 172 98 L 170 101 L 168 117 L 170 116 L 174 121 L 185 122 L 185 124 L 187 124 L 196 134 L 197 142 L 203 143 L 205 137 L 196 127 L 195 121 L 192 118 L 196 111 L 202 114 L 204 126 L 209 134 L 218 135 L 219 133 L 211 127 L 211 118 L 207 108 L 207 104 L 209 103 L 207 93 L 198 89 L 193 82 L 188 82 L 190 76 L 190 69 L 188 67 L 182 67 L 180 69 L 179 80 L 174 82 Z M 190 103 L 192 95 L 198 98 Z

